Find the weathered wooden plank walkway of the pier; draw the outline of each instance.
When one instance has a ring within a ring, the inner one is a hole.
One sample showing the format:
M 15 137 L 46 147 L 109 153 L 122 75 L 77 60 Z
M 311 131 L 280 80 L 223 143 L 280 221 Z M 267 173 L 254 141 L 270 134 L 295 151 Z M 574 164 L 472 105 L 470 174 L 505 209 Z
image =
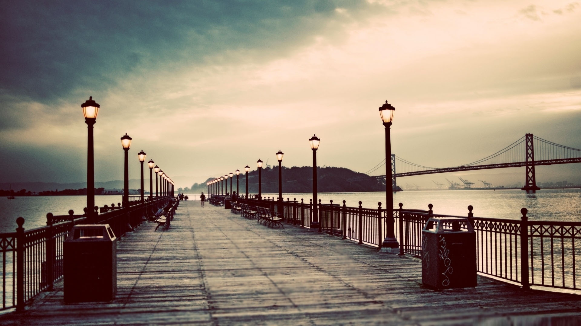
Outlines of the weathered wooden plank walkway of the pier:
M 314 230 L 270 229 L 184 201 L 168 230 L 117 246 L 112 303 L 65 305 L 62 282 L 1 325 L 574 325 L 581 296 L 479 277 L 433 291 L 421 262 Z

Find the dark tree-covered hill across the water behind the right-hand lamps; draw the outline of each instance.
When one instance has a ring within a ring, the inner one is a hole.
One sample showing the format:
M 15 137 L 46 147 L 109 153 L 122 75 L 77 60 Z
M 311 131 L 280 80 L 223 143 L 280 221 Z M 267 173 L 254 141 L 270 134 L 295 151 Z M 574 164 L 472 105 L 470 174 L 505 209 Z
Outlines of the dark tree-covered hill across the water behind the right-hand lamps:
M 346 168 L 327 166 L 317 168 L 317 190 L 321 193 L 352 193 L 358 191 L 385 191 L 385 184 L 375 178 L 368 178 L 358 182 L 347 182 L 349 179 L 367 176 L 364 173 L 355 172 Z M 207 191 L 206 183 L 216 179 L 208 178 L 200 184 L 193 184 L 189 192 L 200 193 Z M 262 170 L 262 193 L 278 193 L 278 166 L 268 167 Z M 232 180 L 232 190 L 236 191 L 236 176 Z M 310 193 L 313 191 L 313 167 L 293 166 L 282 167 L 282 191 L 284 193 Z M 230 180 L 227 181 L 228 192 Z M 239 189 L 241 193 L 246 191 L 246 176 L 239 176 Z M 248 192 L 258 193 L 258 171 L 252 171 L 248 175 Z

